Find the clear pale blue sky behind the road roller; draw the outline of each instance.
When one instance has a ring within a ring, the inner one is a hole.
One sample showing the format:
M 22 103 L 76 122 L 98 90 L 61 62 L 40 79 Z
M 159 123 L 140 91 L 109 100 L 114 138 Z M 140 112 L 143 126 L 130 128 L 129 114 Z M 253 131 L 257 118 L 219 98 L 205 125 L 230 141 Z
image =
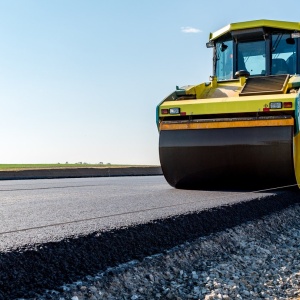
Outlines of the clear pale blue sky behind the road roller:
M 0 0 L 0 163 L 158 165 L 156 106 L 208 81 L 209 33 L 300 22 L 282 3 Z

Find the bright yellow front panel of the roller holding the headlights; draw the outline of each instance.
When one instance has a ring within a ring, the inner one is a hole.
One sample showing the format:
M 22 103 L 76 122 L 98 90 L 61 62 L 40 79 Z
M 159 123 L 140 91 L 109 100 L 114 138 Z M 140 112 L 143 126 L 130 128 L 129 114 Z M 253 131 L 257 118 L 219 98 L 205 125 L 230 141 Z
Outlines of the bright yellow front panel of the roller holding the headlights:
M 294 110 L 296 94 L 279 94 L 248 97 L 226 97 L 216 99 L 194 99 L 166 101 L 160 105 L 160 117 L 170 116 L 161 114 L 161 109 L 179 107 L 186 115 L 209 115 L 225 113 L 262 112 L 269 107 L 270 102 L 292 102 L 292 108 L 282 108 L 280 111 Z M 279 111 L 270 109 L 270 111 Z M 176 115 L 175 115 L 176 116 Z

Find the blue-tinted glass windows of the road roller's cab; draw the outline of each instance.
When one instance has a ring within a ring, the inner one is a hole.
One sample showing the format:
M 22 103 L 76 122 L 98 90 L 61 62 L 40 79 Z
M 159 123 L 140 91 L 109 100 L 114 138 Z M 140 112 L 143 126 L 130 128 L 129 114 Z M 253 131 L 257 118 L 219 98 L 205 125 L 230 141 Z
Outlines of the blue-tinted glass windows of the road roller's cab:
M 296 42 L 290 34 L 282 33 L 266 40 L 217 42 L 215 62 L 218 80 L 234 79 L 240 70 L 248 71 L 250 76 L 295 74 Z

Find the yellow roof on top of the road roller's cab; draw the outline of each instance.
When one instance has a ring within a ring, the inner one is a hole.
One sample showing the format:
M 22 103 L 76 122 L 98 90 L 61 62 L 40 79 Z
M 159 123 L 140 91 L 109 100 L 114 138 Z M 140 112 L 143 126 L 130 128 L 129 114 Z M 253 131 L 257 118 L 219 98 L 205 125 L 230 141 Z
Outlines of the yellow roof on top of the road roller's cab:
M 210 33 L 209 40 L 213 41 L 217 38 L 226 35 L 227 33 L 235 30 L 251 29 L 257 27 L 270 27 L 276 29 L 300 31 L 299 22 L 287 22 L 287 21 L 276 21 L 276 20 L 254 20 L 239 23 L 231 23 L 213 33 Z

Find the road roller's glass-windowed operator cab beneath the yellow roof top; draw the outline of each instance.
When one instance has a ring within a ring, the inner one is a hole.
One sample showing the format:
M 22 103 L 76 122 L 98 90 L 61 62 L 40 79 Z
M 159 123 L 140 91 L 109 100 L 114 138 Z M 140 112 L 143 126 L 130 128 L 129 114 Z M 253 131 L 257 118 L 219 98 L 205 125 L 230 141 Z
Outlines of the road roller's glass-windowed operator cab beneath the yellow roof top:
M 269 22 L 272 25 L 274 21 Z M 299 74 L 300 32 L 265 26 L 239 30 L 229 27 L 223 31 L 207 43 L 207 47 L 214 48 L 213 71 L 218 81 L 236 79 L 241 74 Z

